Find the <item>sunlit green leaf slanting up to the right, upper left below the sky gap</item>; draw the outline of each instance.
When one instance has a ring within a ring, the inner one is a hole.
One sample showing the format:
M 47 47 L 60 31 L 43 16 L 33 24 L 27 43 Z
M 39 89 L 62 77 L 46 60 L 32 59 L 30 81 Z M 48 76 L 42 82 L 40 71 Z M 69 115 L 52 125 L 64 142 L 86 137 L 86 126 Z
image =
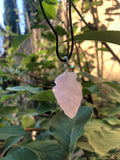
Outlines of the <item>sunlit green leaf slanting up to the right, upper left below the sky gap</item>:
M 31 35 L 32 35 L 31 33 L 28 33 L 26 35 L 15 36 L 15 38 L 13 39 L 11 43 L 11 52 L 14 53 L 15 51 L 17 51 L 19 47 L 21 46 L 21 44 L 25 40 L 27 40 Z

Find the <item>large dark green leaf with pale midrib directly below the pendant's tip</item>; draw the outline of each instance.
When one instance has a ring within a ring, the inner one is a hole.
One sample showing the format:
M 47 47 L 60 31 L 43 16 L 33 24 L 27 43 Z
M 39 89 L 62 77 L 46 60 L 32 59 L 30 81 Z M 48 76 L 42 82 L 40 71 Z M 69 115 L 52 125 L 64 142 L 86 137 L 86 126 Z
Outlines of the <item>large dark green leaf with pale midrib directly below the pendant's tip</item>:
M 83 106 L 79 108 L 74 119 L 70 119 L 63 112 L 60 112 L 51 120 L 50 132 L 68 154 L 73 151 L 77 139 L 83 135 L 84 126 L 91 113 L 90 107 Z

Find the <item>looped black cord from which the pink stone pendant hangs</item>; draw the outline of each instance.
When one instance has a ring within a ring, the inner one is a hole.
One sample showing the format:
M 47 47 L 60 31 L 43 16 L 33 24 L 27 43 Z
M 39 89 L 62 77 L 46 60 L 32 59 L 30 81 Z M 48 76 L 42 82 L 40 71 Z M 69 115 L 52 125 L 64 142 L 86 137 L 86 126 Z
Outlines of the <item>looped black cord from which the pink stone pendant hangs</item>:
M 54 27 L 52 26 L 52 24 L 50 23 L 50 21 L 48 20 L 46 14 L 45 14 L 45 11 L 44 11 L 44 8 L 43 8 L 43 5 L 42 5 L 42 0 L 39 0 L 39 3 L 40 3 L 40 7 L 41 7 L 41 10 L 42 10 L 42 13 L 48 23 L 48 25 L 50 26 L 50 28 L 52 29 L 55 37 L 56 37 L 56 54 L 57 54 L 57 57 L 60 61 L 62 62 L 67 62 L 67 59 L 69 60 L 72 56 L 72 52 L 73 52 L 73 47 L 74 47 L 74 36 L 73 36 L 73 28 L 72 28 L 72 17 L 71 17 L 71 0 L 69 0 L 69 21 L 70 21 L 70 30 L 71 30 L 71 40 L 72 40 L 72 43 L 71 43 L 71 50 L 70 50 L 70 53 L 68 55 L 68 57 L 66 58 L 61 58 L 60 55 L 59 55 L 59 52 L 58 52 L 58 35 L 57 35 L 57 32 L 56 30 L 54 29 Z

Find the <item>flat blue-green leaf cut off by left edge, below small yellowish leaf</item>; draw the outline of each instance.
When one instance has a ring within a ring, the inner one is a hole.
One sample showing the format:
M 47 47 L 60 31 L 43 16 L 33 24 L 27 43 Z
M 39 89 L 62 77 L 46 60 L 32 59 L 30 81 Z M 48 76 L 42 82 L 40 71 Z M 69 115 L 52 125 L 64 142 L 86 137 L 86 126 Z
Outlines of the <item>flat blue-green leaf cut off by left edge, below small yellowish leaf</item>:
M 19 126 L 5 126 L 0 128 L 0 139 L 7 139 L 11 136 L 24 136 L 25 130 Z

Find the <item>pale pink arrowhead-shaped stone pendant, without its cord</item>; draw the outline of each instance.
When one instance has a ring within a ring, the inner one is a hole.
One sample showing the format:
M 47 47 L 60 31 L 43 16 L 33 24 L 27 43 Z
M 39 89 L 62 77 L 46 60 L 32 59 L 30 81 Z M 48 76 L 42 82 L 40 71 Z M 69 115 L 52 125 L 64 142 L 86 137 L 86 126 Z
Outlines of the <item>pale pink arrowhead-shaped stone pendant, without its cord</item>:
M 76 80 L 77 74 L 65 71 L 55 79 L 53 93 L 64 113 L 71 119 L 75 117 L 82 100 L 82 86 Z

